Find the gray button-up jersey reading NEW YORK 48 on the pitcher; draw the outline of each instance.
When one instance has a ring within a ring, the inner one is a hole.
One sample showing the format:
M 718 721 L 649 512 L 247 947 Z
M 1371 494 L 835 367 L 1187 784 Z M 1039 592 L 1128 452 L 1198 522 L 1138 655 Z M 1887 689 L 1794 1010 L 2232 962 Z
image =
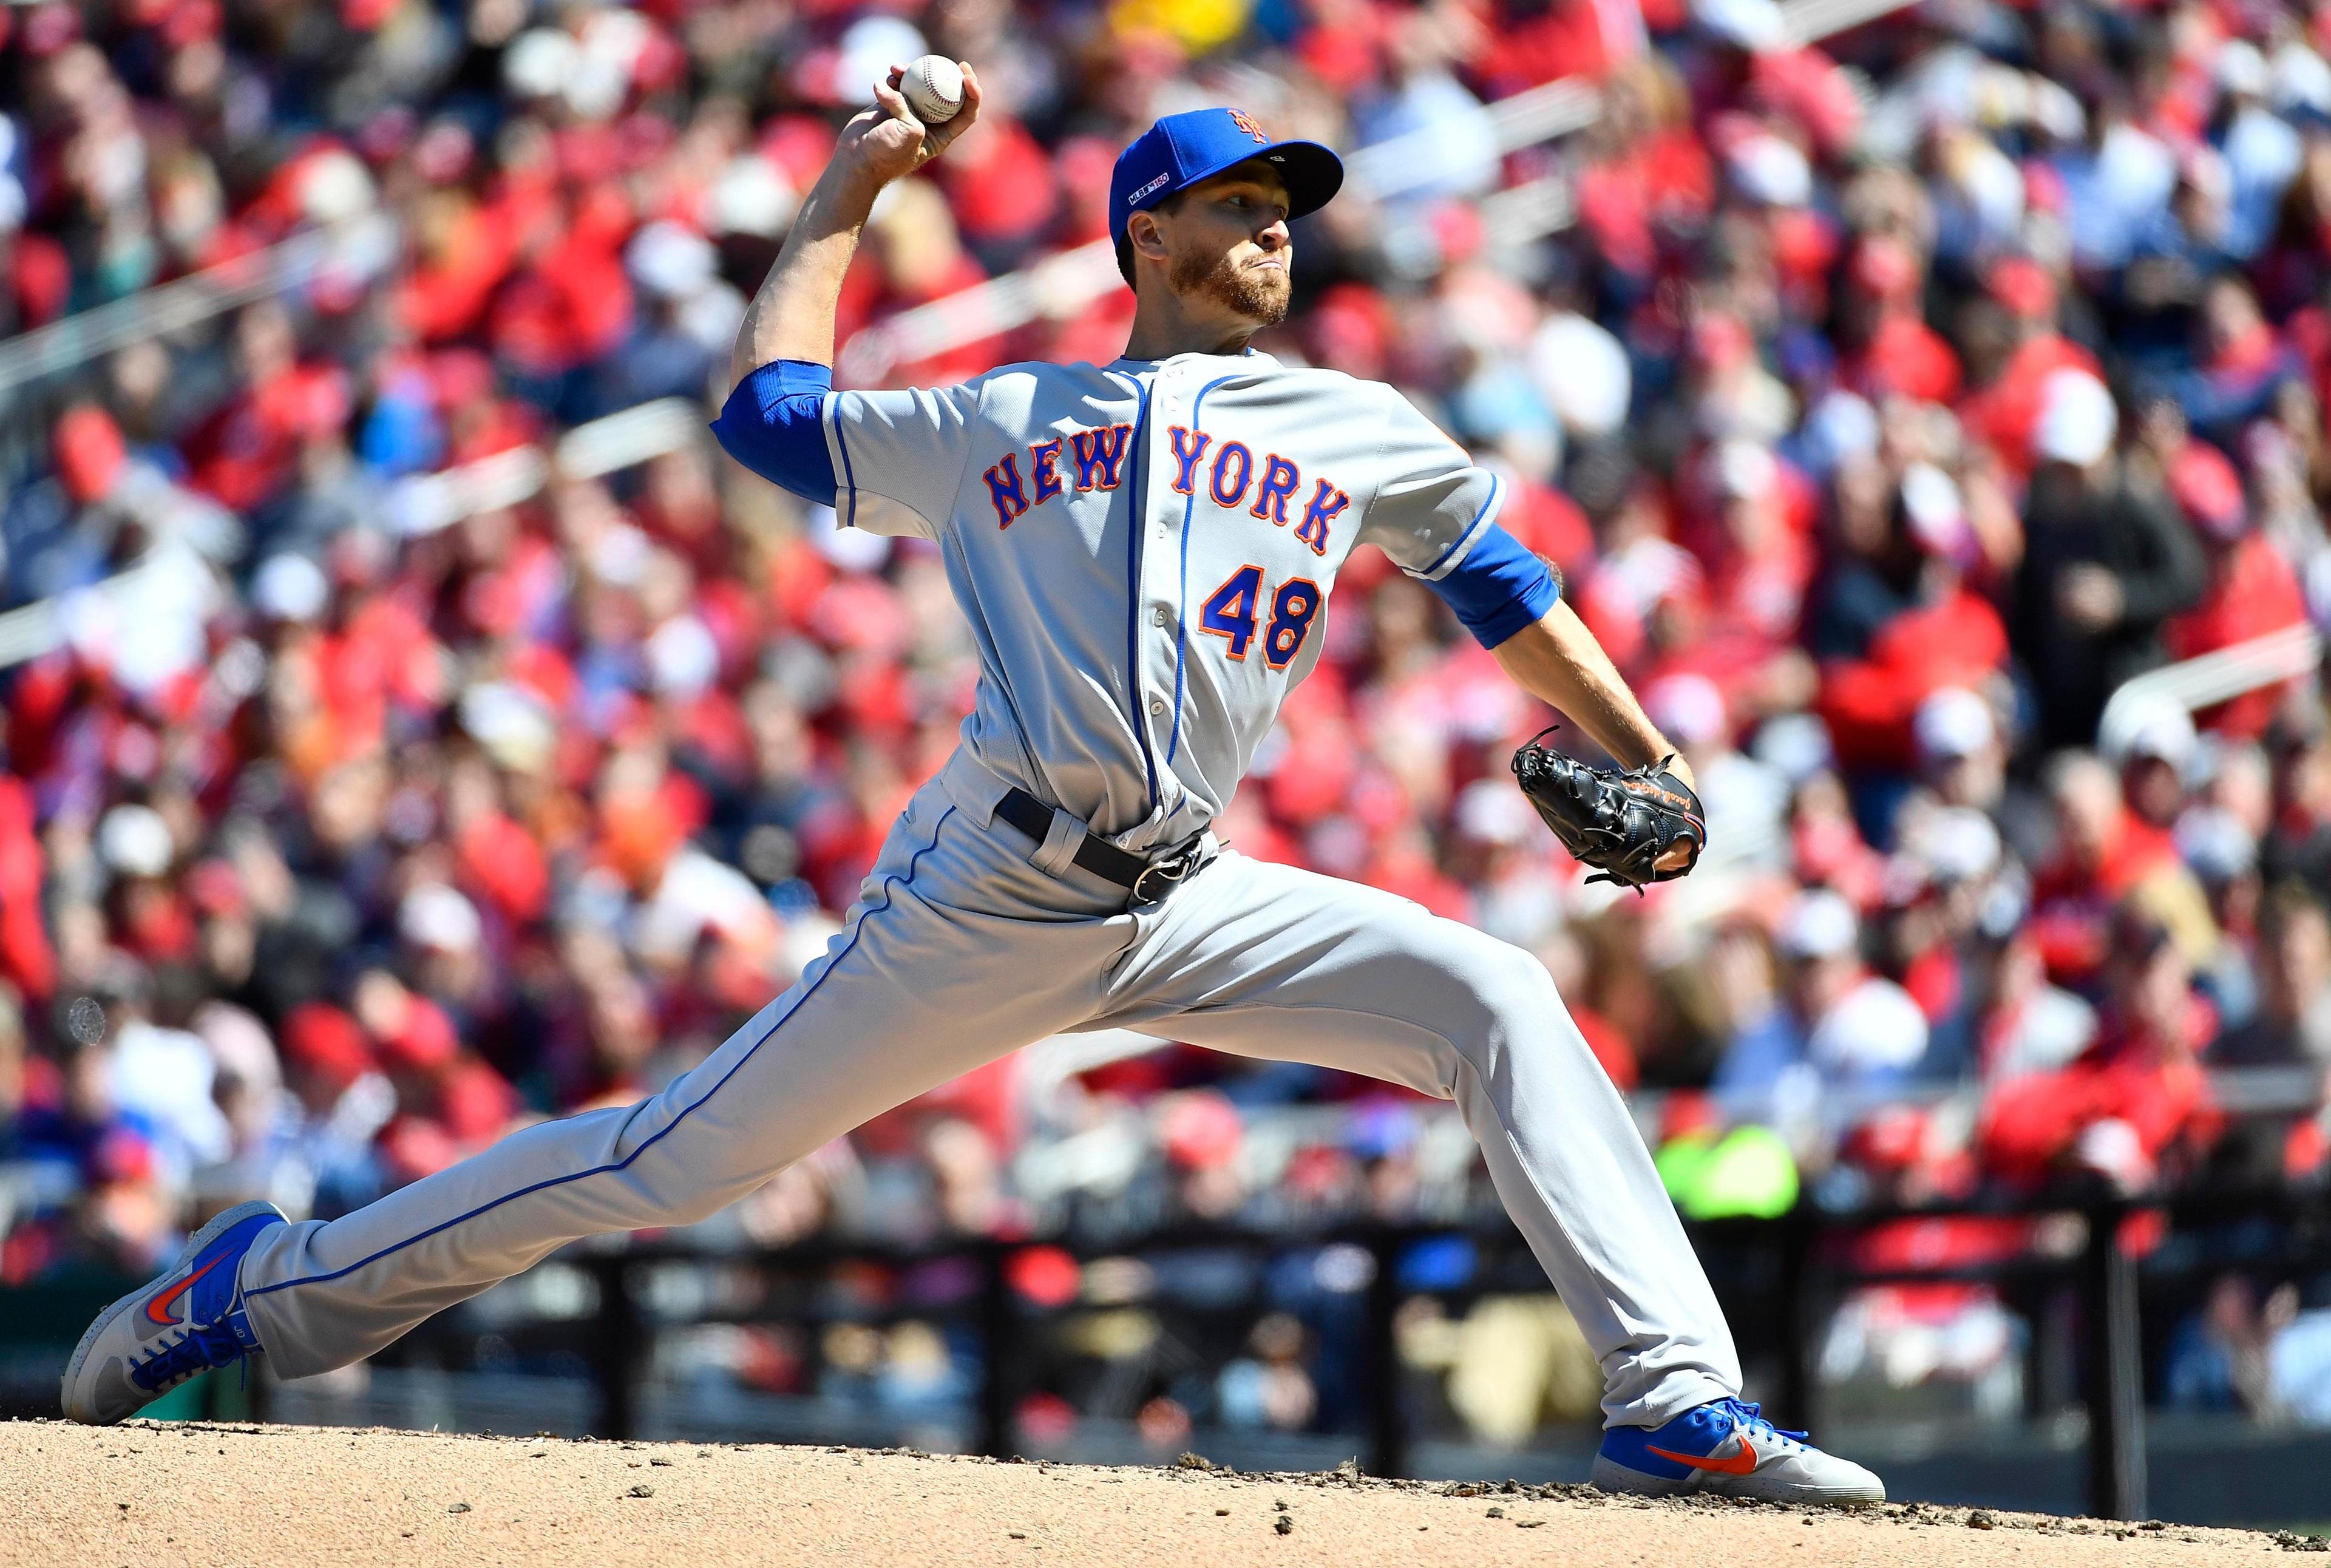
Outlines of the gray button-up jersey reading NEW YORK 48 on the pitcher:
M 1382 382 L 1268 354 L 1005 366 L 825 398 L 834 508 L 946 552 L 979 641 L 963 743 L 1124 848 L 1228 804 L 1357 543 L 1441 578 L 1499 480 Z

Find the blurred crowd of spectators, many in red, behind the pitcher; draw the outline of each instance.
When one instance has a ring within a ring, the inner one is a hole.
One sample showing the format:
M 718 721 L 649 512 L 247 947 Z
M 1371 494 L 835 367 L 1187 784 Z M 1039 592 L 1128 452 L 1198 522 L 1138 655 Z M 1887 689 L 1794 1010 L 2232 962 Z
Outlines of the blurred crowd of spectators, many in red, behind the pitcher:
M 1807 42 L 1772 0 L 49 0 L 0 12 L 0 331 L 319 242 L 0 394 L 0 599 L 54 627 L 0 687 L 0 1284 L 653 1093 L 837 930 L 970 706 L 939 557 L 702 438 L 434 475 L 716 408 L 837 126 L 925 49 L 986 112 L 876 207 L 844 338 L 1103 235 L 1156 114 L 1424 137 L 1298 226 L 1266 347 L 1503 471 L 1713 843 L 1585 885 L 1506 778 L 1545 715 L 1373 552 L 1221 827 L 1538 953 L 1688 1214 L 2324 1172 L 2319 685 L 2107 699 L 2331 620 L 2331 9 L 1921 0 Z M 1594 119 L 1506 147 L 1487 105 L 1557 79 Z M 1105 361 L 1128 319 L 886 380 Z M 1030 1060 L 723 1223 L 1487 1202 L 1385 1086 Z M 1301 1405 L 1284 1337 L 1256 1410 Z

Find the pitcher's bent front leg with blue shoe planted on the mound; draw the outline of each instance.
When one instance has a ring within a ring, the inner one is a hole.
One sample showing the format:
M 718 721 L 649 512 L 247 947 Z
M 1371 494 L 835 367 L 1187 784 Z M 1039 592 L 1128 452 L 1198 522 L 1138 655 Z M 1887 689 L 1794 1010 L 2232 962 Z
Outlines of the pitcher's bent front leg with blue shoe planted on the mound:
M 1883 1496 L 1739 1403 L 1732 1333 L 1650 1151 L 1529 953 L 1375 888 L 1224 853 L 1142 920 L 1110 997 L 1107 1023 L 1455 1100 L 1601 1363 L 1606 1454 L 1648 1465 L 1597 1465 L 1606 1484 Z M 1634 1454 L 1662 1435 L 1685 1458 Z M 1751 1484 L 1739 1454 L 1758 1445 Z

